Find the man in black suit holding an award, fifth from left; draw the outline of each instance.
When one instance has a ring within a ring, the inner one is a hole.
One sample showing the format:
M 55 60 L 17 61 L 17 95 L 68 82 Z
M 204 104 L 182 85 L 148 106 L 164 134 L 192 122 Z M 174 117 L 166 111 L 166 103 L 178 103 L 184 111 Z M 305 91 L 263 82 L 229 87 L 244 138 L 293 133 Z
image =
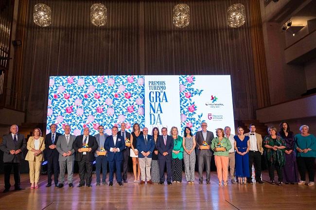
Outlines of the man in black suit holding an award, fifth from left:
M 92 181 L 92 164 L 94 161 L 94 152 L 98 149 L 98 142 L 94 136 L 89 135 L 90 129 L 86 127 L 84 129 L 84 135 L 77 136 L 73 142 L 73 149 L 76 152 L 75 160 L 78 161 L 79 165 L 79 177 L 80 182 L 77 187 L 86 186 L 91 187 Z M 88 152 L 83 152 L 83 144 L 88 144 Z

